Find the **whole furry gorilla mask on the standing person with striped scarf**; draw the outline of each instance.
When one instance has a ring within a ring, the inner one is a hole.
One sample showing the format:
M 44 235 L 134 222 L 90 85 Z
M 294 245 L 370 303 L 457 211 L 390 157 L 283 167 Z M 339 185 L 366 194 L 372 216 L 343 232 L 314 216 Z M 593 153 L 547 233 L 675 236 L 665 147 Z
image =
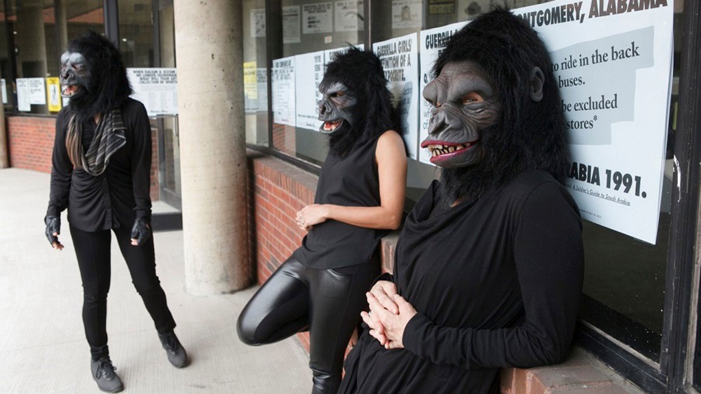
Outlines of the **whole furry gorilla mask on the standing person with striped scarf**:
M 61 55 L 60 84 L 81 119 L 120 107 L 132 93 L 119 50 L 93 31 L 71 41 Z

